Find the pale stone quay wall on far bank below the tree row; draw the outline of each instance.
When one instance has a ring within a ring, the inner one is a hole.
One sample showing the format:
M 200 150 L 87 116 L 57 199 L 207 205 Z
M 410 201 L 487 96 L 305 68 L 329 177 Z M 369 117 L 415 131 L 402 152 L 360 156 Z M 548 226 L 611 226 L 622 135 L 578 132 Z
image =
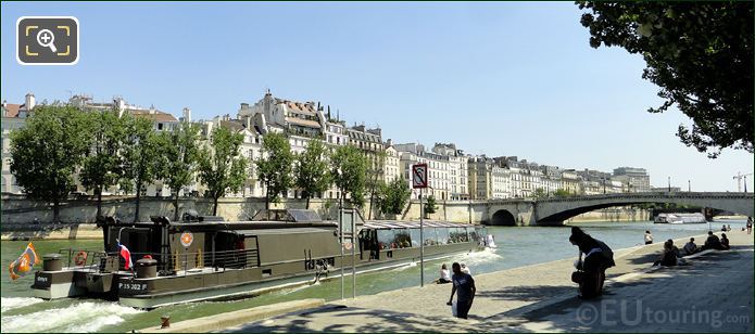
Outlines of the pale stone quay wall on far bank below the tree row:
M 412 201 L 400 215 L 380 215 L 369 213 L 369 200 L 367 198 L 362 210 L 364 219 L 401 219 L 419 220 L 419 201 Z M 200 215 L 212 215 L 213 202 L 204 197 L 181 197 L 178 201 L 179 215 L 188 209 L 197 210 Z M 272 208 L 305 208 L 304 200 L 284 200 L 277 204 L 270 204 Z M 256 213 L 265 208 L 265 200 L 256 197 L 225 197 L 218 200 L 217 216 L 226 220 L 249 220 Z M 310 208 L 317 211 L 324 219 L 338 219 L 338 202 L 336 200 L 313 198 Z M 528 224 L 531 221 L 531 209 L 528 207 L 515 207 L 517 224 Z M 173 219 L 173 201 L 169 197 L 142 197 L 139 208 L 139 221 L 149 221 L 150 216 L 166 216 Z M 426 219 L 445 220 L 454 222 L 488 222 L 495 208 L 485 202 L 438 202 L 436 213 L 426 215 Z M 102 201 L 102 214 L 115 216 L 124 221 L 133 221 L 136 213 L 136 200 L 131 196 L 106 196 Z M 63 223 L 93 223 L 97 215 L 97 201 L 93 198 L 70 200 L 61 204 L 60 219 Z M 52 206 L 42 201 L 34 201 L 24 196 L 2 196 L 2 226 L 33 223 L 35 219 L 40 223 L 52 222 Z M 645 210 L 631 208 L 607 208 L 582 214 L 569 219 L 568 222 L 578 221 L 643 221 L 650 220 L 650 214 Z

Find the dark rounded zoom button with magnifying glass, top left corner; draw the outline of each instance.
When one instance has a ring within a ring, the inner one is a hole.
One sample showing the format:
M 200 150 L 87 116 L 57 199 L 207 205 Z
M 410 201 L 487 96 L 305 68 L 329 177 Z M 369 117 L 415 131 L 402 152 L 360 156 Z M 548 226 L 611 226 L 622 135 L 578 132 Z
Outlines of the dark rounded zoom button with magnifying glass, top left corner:
M 22 65 L 73 65 L 78 62 L 78 20 L 73 16 L 22 16 L 16 22 L 16 60 Z

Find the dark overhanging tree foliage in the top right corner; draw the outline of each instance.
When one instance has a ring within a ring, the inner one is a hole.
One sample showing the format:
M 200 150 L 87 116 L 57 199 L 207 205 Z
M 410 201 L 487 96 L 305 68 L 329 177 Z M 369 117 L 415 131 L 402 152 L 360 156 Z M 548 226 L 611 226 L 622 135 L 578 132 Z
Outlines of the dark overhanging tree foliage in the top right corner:
M 618 46 L 644 57 L 642 77 L 692 118 L 682 143 L 717 157 L 722 149 L 753 153 L 753 4 L 751 2 L 577 1 L 590 46 Z

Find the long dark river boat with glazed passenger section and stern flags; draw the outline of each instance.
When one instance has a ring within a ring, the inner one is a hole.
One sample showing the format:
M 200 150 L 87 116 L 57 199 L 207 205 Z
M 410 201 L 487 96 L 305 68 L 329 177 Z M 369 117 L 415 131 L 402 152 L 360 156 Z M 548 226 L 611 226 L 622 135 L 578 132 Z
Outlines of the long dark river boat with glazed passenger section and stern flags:
M 35 295 L 155 308 L 309 284 L 339 277 L 339 269 L 352 264 L 357 273 L 379 270 L 418 261 L 420 253 L 417 221 L 356 219 L 355 240 L 343 233 L 342 246 L 338 223 L 311 210 L 264 211 L 251 221 L 191 215 L 180 222 L 151 220 L 108 219 L 100 223 L 104 249 L 45 256 L 32 286 Z M 426 221 L 423 233 L 426 260 L 479 251 L 487 242 L 482 226 Z

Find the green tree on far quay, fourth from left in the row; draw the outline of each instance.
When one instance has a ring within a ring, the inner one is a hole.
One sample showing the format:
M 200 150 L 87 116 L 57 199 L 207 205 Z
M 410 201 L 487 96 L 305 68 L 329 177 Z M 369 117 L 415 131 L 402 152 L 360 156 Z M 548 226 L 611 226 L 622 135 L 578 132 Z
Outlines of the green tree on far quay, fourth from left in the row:
M 160 178 L 171 188 L 173 219 L 178 220 L 178 193 L 191 183 L 199 165 L 199 126 L 181 121 L 173 132 L 160 134 L 163 168 Z

